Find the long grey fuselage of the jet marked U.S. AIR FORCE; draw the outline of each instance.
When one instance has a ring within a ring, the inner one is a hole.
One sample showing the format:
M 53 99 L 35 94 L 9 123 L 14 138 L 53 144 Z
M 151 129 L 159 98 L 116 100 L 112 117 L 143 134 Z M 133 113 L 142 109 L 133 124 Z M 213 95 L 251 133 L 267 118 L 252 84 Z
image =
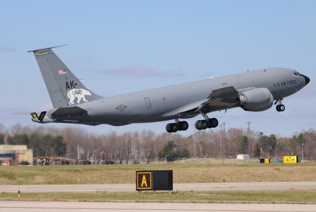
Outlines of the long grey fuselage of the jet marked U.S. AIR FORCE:
M 113 97 L 85 102 L 79 106 L 86 110 L 86 114 L 65 117 L 52 117 L 51 119 L 107 123 L 111 125 L 125 125 L 130 123 L 146 123 L 165 121 L 176 118 L 189 118 L 199 114 L 195 112 L 190 116 L 179 116 L 170 111 L 177 110 L 192 103 L 206 100 L 212 90 L 234 86 L 239 92 L 248 88 L 267 88 L 274 100 L 290 96 L 306 85 L 304 75 L 294 74 L 294 70 L 284 68 L 271 68 L 259 71 L 249 71 L 228 76 L 209 78 L 178 85 L 166 86 L 140 92 L 122 94 Z M 234 103 L 226 108 L 214 107 L 205 113 L 221 109 L 237 107 Z M 71 106 L 69 106 L 71 107 Z

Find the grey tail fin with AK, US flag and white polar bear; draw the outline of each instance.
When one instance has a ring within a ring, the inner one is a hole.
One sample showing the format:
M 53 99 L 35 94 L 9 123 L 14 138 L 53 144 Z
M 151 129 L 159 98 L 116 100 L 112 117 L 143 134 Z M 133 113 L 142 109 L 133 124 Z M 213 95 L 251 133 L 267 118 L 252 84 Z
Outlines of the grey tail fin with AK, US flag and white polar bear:
M 28 51 L 34 53 L 53 107 L 78 105 L 103 98 L 89 91 L 80 82 L 52 51 L 55 47 L 59 46 Z

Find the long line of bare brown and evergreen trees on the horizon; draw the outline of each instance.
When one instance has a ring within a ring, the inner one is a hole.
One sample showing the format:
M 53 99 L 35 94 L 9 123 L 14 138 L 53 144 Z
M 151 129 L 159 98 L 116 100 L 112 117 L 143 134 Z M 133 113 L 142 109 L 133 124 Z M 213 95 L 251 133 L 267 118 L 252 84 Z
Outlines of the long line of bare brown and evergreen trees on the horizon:
M 283 155 L 299 155 L 316 160 L 316 131 L 294 133 L 291 137 L 245 132 L 243 129 L 198 131 L 190 136 L 180 133 L 111 132 L 97 135 L 78 127 L 22 126 L 5 128 L 0 124 L 0 144 L 7 136 L 8 144 L 24 144 L 33 149 L 34 156 L 55 156 L 90 159 L 144 160 L 207 157 L 229 158 L 249 154 L 251 158 L 281 159 Z

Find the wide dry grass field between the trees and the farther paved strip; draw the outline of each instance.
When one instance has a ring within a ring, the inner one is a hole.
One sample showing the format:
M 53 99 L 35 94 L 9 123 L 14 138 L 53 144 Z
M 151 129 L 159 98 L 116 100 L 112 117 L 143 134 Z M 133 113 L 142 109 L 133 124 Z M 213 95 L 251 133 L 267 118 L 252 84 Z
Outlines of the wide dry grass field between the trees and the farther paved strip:
M 136 170 L 173 170 L 174 183 L 316 181 L 316 163 L 0 167 L 0 184 L 135 183 Z

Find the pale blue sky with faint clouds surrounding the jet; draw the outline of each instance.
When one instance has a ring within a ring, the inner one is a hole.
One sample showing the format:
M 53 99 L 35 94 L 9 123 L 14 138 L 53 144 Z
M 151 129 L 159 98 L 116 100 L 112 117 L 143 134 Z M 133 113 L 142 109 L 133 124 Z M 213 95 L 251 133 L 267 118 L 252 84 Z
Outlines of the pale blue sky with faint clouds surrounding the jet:
M 61 44 L 55 53 L 95 93 L 113 96 L 269 67 L 295 69 L 311 78 L 285 98 L 284 112 L 240 108 L 209 114 L 227 128 L 291 136 L 316 126 L 315 1 L 3 1 L 0 7 L 0 123 L 35 124 L 11 112 L 42 110 L 50 99 L 28 50 Z M 189 130 L 201 117 L 189 119 Z M 165 124 L 83 126 L 107 133 Z M 55 124 L 64 127 L 66 124 Z

